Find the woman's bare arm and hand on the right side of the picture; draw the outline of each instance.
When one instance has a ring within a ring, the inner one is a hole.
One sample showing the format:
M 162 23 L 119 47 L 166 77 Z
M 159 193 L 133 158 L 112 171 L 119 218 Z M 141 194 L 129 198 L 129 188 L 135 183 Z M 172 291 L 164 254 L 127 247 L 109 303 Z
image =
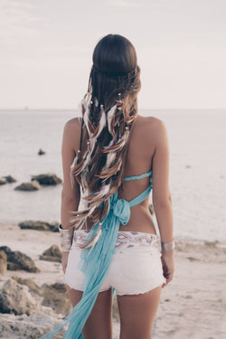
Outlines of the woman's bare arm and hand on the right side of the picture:
M 172 196 L 169 189 L 169 142 L 165 123 L 155 121 L 155 153 L 153 155 L 153 206 L 163 242 L 174 240 Z M 174 276 L 174 250 L 162 251 L 166 284 Z

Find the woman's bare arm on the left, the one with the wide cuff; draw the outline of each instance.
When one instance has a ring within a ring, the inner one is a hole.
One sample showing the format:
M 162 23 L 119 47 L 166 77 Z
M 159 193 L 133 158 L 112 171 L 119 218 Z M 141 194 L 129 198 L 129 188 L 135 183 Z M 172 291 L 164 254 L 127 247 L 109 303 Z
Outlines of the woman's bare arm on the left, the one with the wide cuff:
M 80 204 L 80 184 L 74 180 L 71 185 L 71 164 L 80 146 L 80 122 L 78 118 L 68 120 L 63 128 L 61 159 L 63 185 L 61 191 L 61 227 L 70 229 L 71 211 L 78 211 Z M 71 238 L 73 228 L 71 228 Z M 62 269 L 65 272 L 69 252 L 62 251 Z

